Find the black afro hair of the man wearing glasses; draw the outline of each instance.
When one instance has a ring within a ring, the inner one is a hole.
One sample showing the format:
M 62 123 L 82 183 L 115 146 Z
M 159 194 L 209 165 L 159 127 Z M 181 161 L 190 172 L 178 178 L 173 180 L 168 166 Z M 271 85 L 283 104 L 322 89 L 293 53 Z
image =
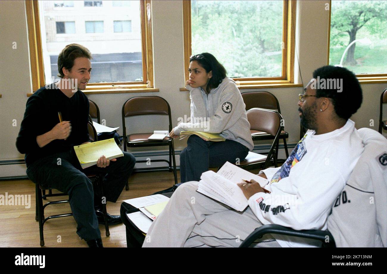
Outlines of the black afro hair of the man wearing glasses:
M 332 98 L 334 110 L 340 118 L 348 120 L 360 108 L 363 94 L 360 83 L 350 70 L 343 67 L 324 66 L 313 72 L 317 79 L 342 79 L 342 91 L 337 89 L 317 89 L 317 97 Z

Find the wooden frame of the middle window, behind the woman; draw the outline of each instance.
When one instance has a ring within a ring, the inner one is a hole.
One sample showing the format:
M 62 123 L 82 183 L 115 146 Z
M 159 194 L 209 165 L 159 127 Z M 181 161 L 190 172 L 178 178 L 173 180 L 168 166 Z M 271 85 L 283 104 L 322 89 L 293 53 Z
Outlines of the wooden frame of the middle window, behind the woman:
M 269 88 L 269 87 L 301 87 L 294 84 L 294 57 L 295 57 L 295 17 L 296 1 L 283 0 L 283 34 L 282 40 L 282 76 L 281 77 L 240 77 L 233 78 L 238 81 L 239 89 Z M 183 0 L 183 36 L 184 36 L 184 68 L 189 66 L 191 49 L 191 1 Z M 188 80 L 188 69 L 185 69 L 185 80 Z M 180 91 L 187 91 L 180 88 Z

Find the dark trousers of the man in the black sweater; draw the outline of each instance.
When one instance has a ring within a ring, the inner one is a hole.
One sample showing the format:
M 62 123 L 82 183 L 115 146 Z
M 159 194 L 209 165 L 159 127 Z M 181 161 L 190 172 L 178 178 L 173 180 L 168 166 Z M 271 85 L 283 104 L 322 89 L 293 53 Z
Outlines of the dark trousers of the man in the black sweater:
M 123 154 L 117 161 L 110 161 L 106 168 L 94 165 L 82 170 L 74 151 L 55 153 L 28 166 L 27 175 L 34 183 L 68 194 L 77 222 L 77 234 L 86 241 L 98 239 L 101 233 L 94 204 L 101 205 L 101 201 L 94 200 L 93 185 L 85 173 L 106 173 L 103 179 L 104 197 L 110 202 L 116 202 L 136 162 L 132 154 Z

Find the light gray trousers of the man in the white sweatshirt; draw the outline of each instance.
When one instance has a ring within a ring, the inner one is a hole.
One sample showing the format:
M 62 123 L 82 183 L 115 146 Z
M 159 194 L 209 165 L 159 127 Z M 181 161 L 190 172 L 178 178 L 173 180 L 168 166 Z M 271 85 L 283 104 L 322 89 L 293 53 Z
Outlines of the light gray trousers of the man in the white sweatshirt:
M 262 223 L 250 207 L 239 212 L 197 192 L 199 182 L 180 185 L 152 223 L 142 247 L 238 247 Z M 269 234 L 256 247 L 280 247 Z

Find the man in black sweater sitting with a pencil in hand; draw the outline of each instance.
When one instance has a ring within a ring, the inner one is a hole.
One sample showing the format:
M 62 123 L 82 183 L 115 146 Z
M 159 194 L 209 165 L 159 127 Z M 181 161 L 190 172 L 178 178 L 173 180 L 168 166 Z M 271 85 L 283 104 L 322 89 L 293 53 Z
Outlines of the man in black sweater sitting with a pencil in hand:
M 89 100 L 80 90 L 86 88 L 90 79 L 91 58 L 90 51 L 78 44 L 67 45 L 61 51 L 58 56 L 61 79 L 41 87 L 28 98 L 16 147 L 26 154 L 27 175 L 31 181 L 69 195 L 80 238 L 89 247 L 103 247 L 98 228 L 98 223 L 104 223 L 99 213 L 101 201 L 94 199 L 91 180 L 84 172 L 107 173 L 103 181 L 104 196 L 116 202 L 132 173 L 135 158 L 128 152 L 111 160 L 101 155 L 96 166 L 82 170 L 75 155 L 74 146 L 90 142 Z M 121 222 L 120 216 L 108 214 L 108 224 Z

